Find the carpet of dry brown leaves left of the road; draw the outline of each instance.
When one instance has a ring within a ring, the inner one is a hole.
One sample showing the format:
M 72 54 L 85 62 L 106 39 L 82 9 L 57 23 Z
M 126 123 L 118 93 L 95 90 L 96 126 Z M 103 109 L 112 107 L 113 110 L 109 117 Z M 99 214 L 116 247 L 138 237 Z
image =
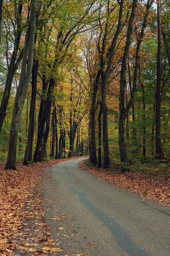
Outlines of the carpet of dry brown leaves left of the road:
M 42 210 L 42 198 L 40 195 L 36 198 L 33 197 L 34 190 L 39 186 L 37 193 L 41 194 L 42 192 L 42 177 L 45 168 L 57 164 L 63 160 L 51 160 L 44 163 L 34 163 L 29 166 L 22 166 L 21 163 L 17 164 L 17 170 L 4 170 L 4 165 L 0 166 L 0 255 L 7 256 L 13 253 L 14 249 L 20 249 L 22 251 L 27 251 L 27 255 L 46 255 L 45 252 L 51 253 L 51 250 L 59 251 L 60 248 L 50 248 L 42 247 L 41 250 L 37 251 L 35 248 L 35 242 L 40 242 L 42 239 L 37 238 L 34 243 L 28 242 L 32 233 L 27 228 L 25 222 L 31 218 L 36 218 L 37 221 L 41 222 L 43 216 Z M 38 208 L 37 208 L 38 207 Z M 37 227 L 40 227 L 41 224 L 36 223 Z M 42 222 L 42 226 L 45 224 Z M 20 230 L 27 230 L 23 233 Z M 35 227 L 36 229 L 36 227 Z M 43 235 L 49 236 L 50 233 L 45 232 L 45 229 L 48 231 L 47 227 L 42 228 L 40 233 Z M 24 235 L 24 233 L 29 233 Z M 44 236 L 43 239 L 46 239 Z M 23 237 L 23 239 L 22 239 Z M 27 244 L 24 243 L 24 246 L 19 246 L 17 241 L 27 240 Z M 32 239 L 34 240 L 34 239 Z M 48 240 L 46 239 L 46 244 L 49 245 Z M 54 244 L 54 243 L 53 243 Z M 44 245 L 43 245 L 44 246 Z

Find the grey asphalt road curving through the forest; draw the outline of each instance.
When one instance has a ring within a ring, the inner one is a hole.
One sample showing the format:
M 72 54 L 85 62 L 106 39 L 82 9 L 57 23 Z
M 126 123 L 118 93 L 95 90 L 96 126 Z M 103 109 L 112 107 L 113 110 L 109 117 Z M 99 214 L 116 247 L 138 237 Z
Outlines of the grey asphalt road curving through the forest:
M 47 170 L 45 219 L 57 255 L 170 256 L 170 208 L 107 183 L 68 160 Z

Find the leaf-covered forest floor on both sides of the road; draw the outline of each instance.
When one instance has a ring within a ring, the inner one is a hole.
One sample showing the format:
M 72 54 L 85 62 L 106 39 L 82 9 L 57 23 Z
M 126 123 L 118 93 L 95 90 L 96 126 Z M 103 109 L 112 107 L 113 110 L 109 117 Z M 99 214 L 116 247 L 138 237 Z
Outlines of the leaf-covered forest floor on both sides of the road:
M 76 158 L 76 157 L 75 157 Z M 65 159 L 67 160 L 67 159 Z M 63 160 L 17 164 L 17 171 L 4 170 L 0 166 L 0 255 L 57 255 L 62 251 L 59 241 L 51 237 L 44 220 L 42 196 L 45 169 Z M 133 165 L 131 172 L 121 174 L 115 166 L 96 169 L 87 160 L 79 167 L 93 175 L 121 186 L 144 198 L 151 198 L 164 206 L 170 206 L 170 167 Z M 77 254 L 80 256 L 81 254 Z

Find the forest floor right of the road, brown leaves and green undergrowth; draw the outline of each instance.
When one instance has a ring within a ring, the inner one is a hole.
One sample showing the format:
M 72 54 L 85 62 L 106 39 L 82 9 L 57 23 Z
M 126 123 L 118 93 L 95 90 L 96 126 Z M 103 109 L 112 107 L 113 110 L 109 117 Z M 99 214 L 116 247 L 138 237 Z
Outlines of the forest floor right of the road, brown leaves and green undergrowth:
M 144 198 L 170 206 L 170 165 L 156 163 L 136 163 L 130 172 L 121 173 L 118 164 L 109 169 L 96 168 L 89 160 L 79 163 L 79 168 L 91 172 L 102 180 L 138 193 Z

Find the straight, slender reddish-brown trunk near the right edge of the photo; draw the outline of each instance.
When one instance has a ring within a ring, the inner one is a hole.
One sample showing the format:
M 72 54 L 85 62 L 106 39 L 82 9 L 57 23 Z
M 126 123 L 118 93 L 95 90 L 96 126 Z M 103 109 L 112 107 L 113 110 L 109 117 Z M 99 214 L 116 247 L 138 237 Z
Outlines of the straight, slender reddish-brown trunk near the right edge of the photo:
M 156 73 L 156 158 L 161 160 L 163 152 L 161 148 L 161 1 L 157 0 L 157 22 L 158 22 L 158 51 L 157 51 L 157 73 Z

